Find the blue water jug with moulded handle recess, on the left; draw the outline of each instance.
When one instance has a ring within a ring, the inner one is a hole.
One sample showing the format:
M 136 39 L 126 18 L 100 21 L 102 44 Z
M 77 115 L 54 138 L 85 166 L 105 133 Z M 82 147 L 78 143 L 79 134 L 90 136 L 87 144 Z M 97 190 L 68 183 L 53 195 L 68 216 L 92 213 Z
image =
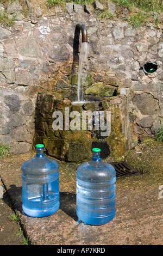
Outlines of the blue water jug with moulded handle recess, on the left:
M 36 145 L 36 155 L 22 164 L 22 208 L 31 217 L 45 217 L 59 208 L 59 164 L 43 154 L 43 144 Z

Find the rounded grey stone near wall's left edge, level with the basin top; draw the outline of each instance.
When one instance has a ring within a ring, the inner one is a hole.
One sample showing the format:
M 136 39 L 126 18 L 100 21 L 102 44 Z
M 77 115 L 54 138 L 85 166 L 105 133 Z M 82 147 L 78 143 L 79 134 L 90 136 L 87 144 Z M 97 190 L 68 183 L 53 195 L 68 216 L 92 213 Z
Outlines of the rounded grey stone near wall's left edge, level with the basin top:
M 17 95 L 7 95 L 4 97 L 4 103 L 10 108 L 10 111 L 16 113 L 20 110 L 20 99 Z

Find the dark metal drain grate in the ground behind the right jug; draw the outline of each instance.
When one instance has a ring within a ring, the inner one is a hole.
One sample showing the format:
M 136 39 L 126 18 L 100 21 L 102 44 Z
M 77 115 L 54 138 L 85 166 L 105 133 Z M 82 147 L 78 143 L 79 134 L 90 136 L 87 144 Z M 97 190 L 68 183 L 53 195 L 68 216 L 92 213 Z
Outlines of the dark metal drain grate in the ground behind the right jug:
M 111 165 L 116 170 L 116 177 L 121 178 L 124 176 L 132 176 L 132 175 L 141 175 L 141 172 L 138 172 L 136 169 L 131 168 L 127 162 L 114 162 Z

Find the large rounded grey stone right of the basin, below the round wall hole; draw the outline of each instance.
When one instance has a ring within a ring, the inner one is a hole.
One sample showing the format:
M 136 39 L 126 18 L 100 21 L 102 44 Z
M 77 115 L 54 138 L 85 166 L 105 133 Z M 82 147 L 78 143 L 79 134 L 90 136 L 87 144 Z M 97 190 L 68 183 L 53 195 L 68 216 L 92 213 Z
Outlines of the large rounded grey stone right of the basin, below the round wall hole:
M 144 115 L 157 114 L 160 111 L 158 100 L 154 99 L 152 94 L 142 93 L 134 97 L 133 102 Z

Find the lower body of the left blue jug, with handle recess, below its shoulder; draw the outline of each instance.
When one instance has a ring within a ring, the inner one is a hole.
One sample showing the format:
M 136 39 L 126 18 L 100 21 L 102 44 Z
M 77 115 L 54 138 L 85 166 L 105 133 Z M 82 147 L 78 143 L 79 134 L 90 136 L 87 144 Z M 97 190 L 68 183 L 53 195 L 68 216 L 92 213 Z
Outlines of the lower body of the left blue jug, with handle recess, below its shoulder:
M 43 178 L 22 174 L 22 209 L 31 217 L 45 217 L 59 208 L 59 172 Z

